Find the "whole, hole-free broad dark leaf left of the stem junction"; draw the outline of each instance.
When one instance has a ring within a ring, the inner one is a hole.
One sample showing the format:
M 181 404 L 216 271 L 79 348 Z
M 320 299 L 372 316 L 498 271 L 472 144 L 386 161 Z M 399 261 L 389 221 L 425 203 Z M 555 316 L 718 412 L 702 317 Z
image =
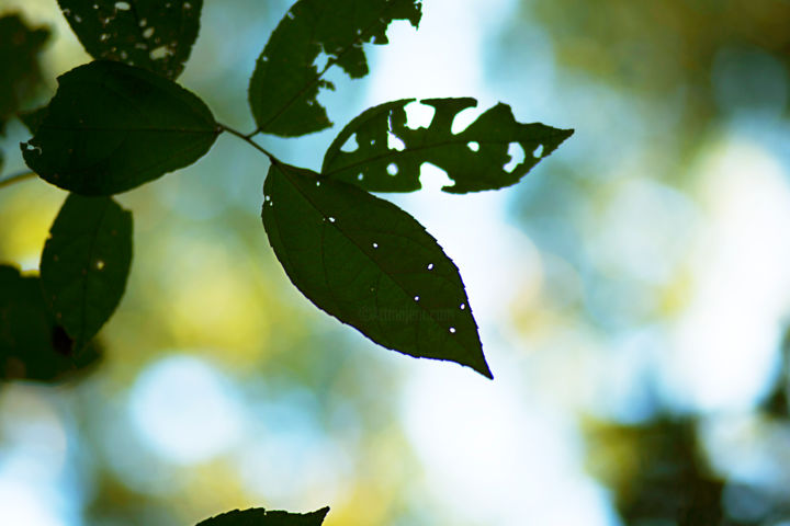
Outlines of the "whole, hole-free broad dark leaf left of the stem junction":
M 219 127 L 206 105 L 145 69 L 95 61 L 58 78 L 35 136 L 22 144 L 27 165 L 84 195 L 110 195 L 192 164 Z

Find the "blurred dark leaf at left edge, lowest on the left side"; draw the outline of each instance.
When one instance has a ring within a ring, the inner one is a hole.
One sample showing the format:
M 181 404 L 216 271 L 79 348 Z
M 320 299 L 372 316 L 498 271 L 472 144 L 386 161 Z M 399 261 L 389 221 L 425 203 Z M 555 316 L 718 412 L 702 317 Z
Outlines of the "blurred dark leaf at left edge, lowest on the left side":
M 0 265 L 0 379 L 54 381 L 95 364 L 100 347 L 75 350 L 49 311 L 37 276 Z

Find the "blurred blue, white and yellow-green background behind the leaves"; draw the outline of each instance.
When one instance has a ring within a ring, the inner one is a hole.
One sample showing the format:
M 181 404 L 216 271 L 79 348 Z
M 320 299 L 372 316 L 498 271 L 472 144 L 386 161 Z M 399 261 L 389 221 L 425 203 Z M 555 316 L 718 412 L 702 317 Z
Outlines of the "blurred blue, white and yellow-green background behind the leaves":
M 290 3 L 206 0 L 180 82 L 218 121 L 253 129 L 247 81 Z M 89 57 L 54 0 L 14 11 L 52 32 L 34 107 Z M 477 98 L 461 128 L 503 101 L 576 129 L 517 186 L 449 195 L 425 165 L 425 191 L 387 196 L 461 268 L 495 380 L 303 298 L 261 226 L 268 161 L 222 136 L 119 196 L 135 259 L 101 363 L 0 386 L 0 523 L 790 525 L 789 21 L 786 0 L 426 0 L 369 77 L 330 73 L 334 129 L 261 140 L 317 169 L 350 118 L 411 96 Z M 5 133 L 0 176 L 29 137 Z M 35 271 L 64 198 L 0 190 L 0 262 Z

